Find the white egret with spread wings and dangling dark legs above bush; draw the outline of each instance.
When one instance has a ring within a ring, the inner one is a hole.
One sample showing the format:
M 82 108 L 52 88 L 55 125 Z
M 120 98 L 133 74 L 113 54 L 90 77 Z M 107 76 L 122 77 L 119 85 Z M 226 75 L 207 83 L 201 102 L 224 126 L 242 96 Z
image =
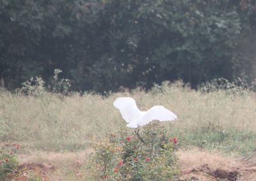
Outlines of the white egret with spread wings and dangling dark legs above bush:
M 170 110 L 164 108 L 164 106 L 153 106 L 147 112 L 141 112 L 134 99 L 129 97 L 117 98 L 113 105 L 118 108 L 123 119 L 128 123 L 127 127 L 139 128 L 145 126 L 152 120 L 159 121 L 172 121 L 177 119 L 177 115 Z M 140 134 L 138 134 L 140 129 L 136 132 L 137 136 L 142 140 Z M 144 141 L 143 141 L 144 142 Z

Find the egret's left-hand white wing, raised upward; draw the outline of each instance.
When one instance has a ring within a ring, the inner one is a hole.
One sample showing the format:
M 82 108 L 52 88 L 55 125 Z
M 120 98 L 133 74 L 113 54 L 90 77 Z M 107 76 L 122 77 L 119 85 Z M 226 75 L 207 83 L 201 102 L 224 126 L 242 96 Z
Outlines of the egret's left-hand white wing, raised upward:
M 117 98 L 113 105 L 120 110 L 120 113 L 126 122 L 138 120 L 142 112 L 138 109 L 136 102 L 132 98 Z

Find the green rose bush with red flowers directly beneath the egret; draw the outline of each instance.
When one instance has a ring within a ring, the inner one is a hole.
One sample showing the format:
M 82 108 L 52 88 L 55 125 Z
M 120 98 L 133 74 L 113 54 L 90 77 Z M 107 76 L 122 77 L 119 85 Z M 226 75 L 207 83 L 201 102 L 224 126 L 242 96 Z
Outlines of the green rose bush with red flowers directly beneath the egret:
M 123 129 L 124 131 L 124 129 Z M 177 174 L 177 138 L 169 139 L 163 127 L 150 124 L 141 134 L 123 138 L 111 134 L 109 140 L 94 147 L 96 179 L 166 180 Z

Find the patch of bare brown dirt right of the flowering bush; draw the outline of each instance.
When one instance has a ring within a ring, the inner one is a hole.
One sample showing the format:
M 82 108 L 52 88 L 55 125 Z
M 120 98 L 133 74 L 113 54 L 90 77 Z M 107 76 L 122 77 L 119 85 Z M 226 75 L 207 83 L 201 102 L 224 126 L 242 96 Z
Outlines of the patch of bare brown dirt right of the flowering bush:
M 256 180 L 256 163 L 194 148 L 179 151 L 180 180 Z

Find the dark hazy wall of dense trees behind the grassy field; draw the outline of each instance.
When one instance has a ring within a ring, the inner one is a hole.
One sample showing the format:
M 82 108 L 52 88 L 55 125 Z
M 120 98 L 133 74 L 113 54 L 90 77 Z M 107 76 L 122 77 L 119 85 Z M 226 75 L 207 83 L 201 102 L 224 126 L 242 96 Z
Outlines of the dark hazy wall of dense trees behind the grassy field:
M 56 68 L 74 91 L 255 78 L 255 1 L 0 0 L 8 89 Z

